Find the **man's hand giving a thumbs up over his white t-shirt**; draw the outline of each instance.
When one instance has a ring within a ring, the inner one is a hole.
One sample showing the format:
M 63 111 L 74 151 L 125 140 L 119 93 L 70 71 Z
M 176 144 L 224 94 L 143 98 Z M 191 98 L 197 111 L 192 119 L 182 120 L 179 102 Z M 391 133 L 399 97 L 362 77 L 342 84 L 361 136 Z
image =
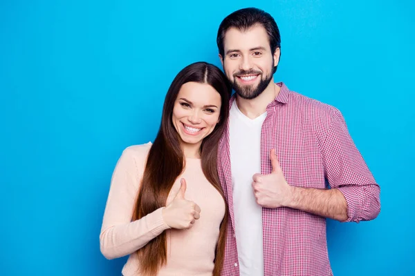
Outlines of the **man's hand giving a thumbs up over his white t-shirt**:
M 279 166 L 275 149 L 271 150 L 270 159 L 273 164 L 273 172 L 269 175 L 256 173 L 252 177 L 255 199 L 257 204 L 266 208 L 287 206 L 291 197 L 292 187 L 288 185 L 281 166 Z

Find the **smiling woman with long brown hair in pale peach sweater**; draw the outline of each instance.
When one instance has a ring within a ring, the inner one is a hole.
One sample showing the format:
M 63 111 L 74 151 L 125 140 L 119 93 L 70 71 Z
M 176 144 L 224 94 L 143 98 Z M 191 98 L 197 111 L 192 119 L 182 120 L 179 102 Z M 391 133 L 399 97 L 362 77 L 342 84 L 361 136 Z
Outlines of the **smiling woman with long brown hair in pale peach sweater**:
M 113 172 L 100 246 L 129 255 L 123 275 L 219 275 L 227 211 L 216 150 L 232 88 L 216 66 L 178 73 L 154 144 L 130 146 Z

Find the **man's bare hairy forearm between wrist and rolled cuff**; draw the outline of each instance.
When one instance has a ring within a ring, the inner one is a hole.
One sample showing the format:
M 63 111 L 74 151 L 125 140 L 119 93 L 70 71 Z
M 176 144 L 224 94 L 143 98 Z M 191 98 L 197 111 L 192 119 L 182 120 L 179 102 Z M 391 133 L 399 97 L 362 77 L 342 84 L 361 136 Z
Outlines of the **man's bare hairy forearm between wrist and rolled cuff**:
M 322 190 L 291 186 L 287 207 L 338 221 L 347 220 L 347 201 L 340 190 Z

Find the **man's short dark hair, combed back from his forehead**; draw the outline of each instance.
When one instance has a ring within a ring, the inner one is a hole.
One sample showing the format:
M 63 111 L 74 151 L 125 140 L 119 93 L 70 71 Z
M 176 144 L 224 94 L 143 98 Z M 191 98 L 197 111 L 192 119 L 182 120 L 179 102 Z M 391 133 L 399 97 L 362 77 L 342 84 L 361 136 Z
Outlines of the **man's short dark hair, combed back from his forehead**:
M 273 17 L 271 17 L 268 12 L 264 12 L 264 10 L 259 10 L 258 8 L 243 8 L 229 14 L 223 19 L 219 26 L 216 43 L 222 58 L 224 58 L 223 38 L 225 37 L 226 31 L 230 28 L 237 28 L 238 30 L 245 31 L 257 24 L 265 28 L 270 41 L 271 52 L 274 55 L 275 50 L 281 48 L 281 37 L 279 36 L 277 23 L 275 23 Z M 277 71 L 277 66 L 274 67 L 273 73 L 275 73 L 275 71 Z

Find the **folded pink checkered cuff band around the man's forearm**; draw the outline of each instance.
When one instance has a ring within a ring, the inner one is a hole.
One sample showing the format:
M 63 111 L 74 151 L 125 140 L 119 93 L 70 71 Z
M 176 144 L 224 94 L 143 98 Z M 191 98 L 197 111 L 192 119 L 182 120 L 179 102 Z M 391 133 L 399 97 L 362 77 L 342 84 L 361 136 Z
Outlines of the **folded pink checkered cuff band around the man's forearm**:
M 347 220 L 343 222 L 359 222 L 361 220 L 359 210 L 362 210 L 362 199 L 365 198 L 362 190 L 355 186 L 344 186 L 337 189 L 340 190 L 347 202 Z

